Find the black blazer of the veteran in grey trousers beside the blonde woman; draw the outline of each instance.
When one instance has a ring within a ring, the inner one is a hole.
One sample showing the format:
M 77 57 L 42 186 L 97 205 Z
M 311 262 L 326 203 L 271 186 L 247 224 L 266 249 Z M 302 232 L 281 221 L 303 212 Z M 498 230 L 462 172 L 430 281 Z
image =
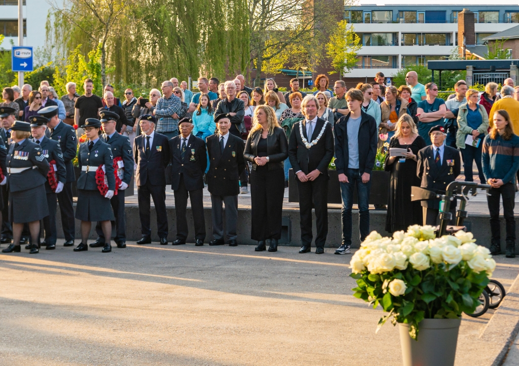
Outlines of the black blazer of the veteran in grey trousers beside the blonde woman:
M 240 193 L 240 174 L 245 169 L 243 140 L 228 133 L 223 153 L 220 150 L 220 134 L 207 138 L 209 171 L 206 174 L 209 192 L 216 196 L 236 196 Z

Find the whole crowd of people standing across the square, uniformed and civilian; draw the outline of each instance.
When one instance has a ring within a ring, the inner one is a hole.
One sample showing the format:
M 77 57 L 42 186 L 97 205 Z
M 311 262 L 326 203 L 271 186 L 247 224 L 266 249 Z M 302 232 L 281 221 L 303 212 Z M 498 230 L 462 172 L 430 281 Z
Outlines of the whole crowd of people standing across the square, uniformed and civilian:
M 204 244 L 203 188 L 207 186 L 213 228 L 209 245 L 237 246 L 238 195 L 248 193 L 250 184 L 255 250 L 267 250 L 268 243 L 268 251 L 276 252 L 284 189 L 293 169 L 301 216 L 299 253 L 310 251 L 315 208 L 313 241 L 315 252 L 321 254 L 328 230 L 328 170 L 335 158 L 343 202 L 342 243 L 335 253 L 347 254 L 354 191 L 364 240 L 370 233 L 377 148 L 398 148 L 405 153 L 387 154 L 385 161 L 390 172 L 386 231 L 436 225 L 439 200 L 412 202 L 412 187 L 444 192 L 458 178 L 461 165 L 465 180 L 472 182 L 475 162 L 478 178 L 491 186 L 491 253 L 501 252 L 499 197 L 503 196 L 506 254 L 514 256 L 519 90 L 513 80 L 505 80 L 499 94 L 498 85 L 488 83 L 481 96 L 459 80 L 446 101 L 438 98 L 436 84 L 420 84 L 416 72 L 407 73 L 406 85 L 399 88 L 384 85 L 384 80 L 377 73 L 374 82 L 349 90 L 343 80 L 337 80 L 332 91 L 329 78 L 318 75 L 312 94 L 299 89 L 297 78 L 282 93 L 274 79 L 266 79 L 264 88 L 249 88 L 243 75 L 224 83 L 199 77 L 199 91 L 193 93 L 185 81 L 173 77 L 160 90 L 150 90 L 148 98 L 135 97 L 132 89 L 126 89 L 122 102 L 111 85 L 104 87 L 102 98 L 93 94 L 91 79 L 85 80 L 83 95 L 77 94 L 75 83 L 67 83 L 61 98 L 48 82 L 38 90 L 28 84 L 5 88 L 0 103 L 0 241 L 9 246 L 3 252 L 20 251 L 22 236 L 31 237 L 26 246 L 30 253 L 37 253 L 41 245 L 56 248 L 57 202 L 64 246 L 74 245 L 75 217 L 81 221 L 81 242 L 74 251 L 103 247 L 103 252 L 110 252 L 113 225 L 117 247 L 125 248 L 124 191 L 133 173 L 141 221 L 139 245 L 152 241 L 151 199 L 160 244 L 168 244 L 165 200 L 170 184 L 176 213 L 173 245 L 185 244 L 188 237 L 188 198 L 195 245 Z M 82 142 L 79 148 L 78 141 Z M 81 173 L 74 213 L 75 158 Z M 45 229 L 41 243 L 40 220 Z M 92 222 L 97 223 L 98 238 L 88 245 Z

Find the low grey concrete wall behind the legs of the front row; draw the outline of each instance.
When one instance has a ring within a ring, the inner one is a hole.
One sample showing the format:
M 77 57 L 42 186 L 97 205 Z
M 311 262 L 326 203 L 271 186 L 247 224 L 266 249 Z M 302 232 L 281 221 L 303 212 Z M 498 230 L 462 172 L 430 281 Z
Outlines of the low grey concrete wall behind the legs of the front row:
M 238 210 L 238 243 L 239 244 L 247 244 L 247 245 L 257 245 L 257 242 L 251 240 L 251 210 L 249 209 L 239 209 Z M 175 220 L 175 209 L 174 207 L 168 207 L 168 226 L 169 226 L 169 235 L 168 241 L 173 241 L 176 239 L 176 220 Z M 211 209 L 204 209 L 204 214 L 206 218 L 206 240 L 204 242 L 209 242 L 213 239 L 212 237 L 212 224 L 211 224 Z M 474 234 L 474 237 L 477 239 L 477 243 L 479 245 L 489 247 L 490 246 L 490 225 L 489 218 L 487 215 L 482 214 L 474 214 L 469 216 L 466 220 L 467 227 Z M 502 221 L 501 225 L 501 238 L 502 238 L 502 246 L 504 248 L 504 221 Z M 191 210 L 187 209 L 187 222 L 189 223 L 189 235 L 187 238 L 188 242 L 194 242 L 194 226 L 193 226 L 193 215 Z M 341 225 L 340 225 L 340 210 L 338 209 L 329 209 L 328 210 L 328 237 L 326 240 L 326 247 L 336 248 L 341 243 Z M 225 223 L 225 219 L 224 219 Z M 299 226 L 299 210 L 297 209 L 286 209 L 283 210 L 283 232 L 282 239 L 280 245 L 287 246 L 301 246 L 301 227 Z M 58 237 L 63 237 L 63 231 L 61 228 L 61 217 L 60 211 L 58 209 L 57 214 L 57 226 L 58 226 Z M 93 231 L 90 233 L 90 238 L 95 239 L 97 236 Z M 390 235 L 385 231 L 386 226 L 386 211 L 384 210 L 372 210 L 370 211 L 370 230 L 376 230 L 381 235 Z M 519 225 L 518 225 L 519 226 Z M 152 240 L 158 241 L 157 236 L 157 219 L 155 214 L 155 209 L 152 207 L 151 213 L 151 228 L 152 228 Z M 315 227 L 315 216 L 313 221 L 313 233 L 316 233 Z M 130 206 L 126 208 L 126 235 L 127 240 L 139 240 L 141 238 L 141 223 L 139 219 L 139 208 L 136 206 Z M 519 233 L 516 233 L 519 236 Z M 80 232 L 79 232 L 79 221 L 76 220 L 76 243 L 78 244 L 80 241 Z M 58 245 L 60 245 L 58 243 Z M 313 244 L 312 244 L 313 246 Z M 359 211 L 353 211 L 353 237 L 352 237 L 352 247 L 359 248 L 360 246 L 360 238 L 359 238 Z M 516 244 L 516 248 L 519 251 L 519 245 Z

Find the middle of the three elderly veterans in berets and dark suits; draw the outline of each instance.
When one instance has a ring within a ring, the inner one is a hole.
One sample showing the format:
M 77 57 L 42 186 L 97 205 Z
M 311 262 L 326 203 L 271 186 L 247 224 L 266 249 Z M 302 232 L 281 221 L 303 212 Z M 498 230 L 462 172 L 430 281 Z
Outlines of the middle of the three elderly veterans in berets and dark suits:
M 187 196 L 191 201 L 195 225 L 195 245 L 203 245 L 206 238 L 206 220 L 203 215 L 203 173 L 207 168 L 206 143 L 191 133 L 193 121 L 179 121 L 180 135 L 169 140 L 171 150 L 171 189 L 175 195 L 176 240 L 172 245 L 186 243 Z

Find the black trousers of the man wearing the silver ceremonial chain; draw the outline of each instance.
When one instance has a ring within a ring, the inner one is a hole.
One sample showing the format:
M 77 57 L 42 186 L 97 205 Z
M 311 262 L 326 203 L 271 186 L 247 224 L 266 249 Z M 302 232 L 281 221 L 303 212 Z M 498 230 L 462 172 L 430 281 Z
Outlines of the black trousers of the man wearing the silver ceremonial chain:
M 296 178 L 297 179 L 297 178 Z M 314 181 L 301 182 L 299 190 L 299 216 L 301 218 L 301 242 L 309 246 L 312 242 L 312 203 L 316 209 L 316 247 L 324 247 L 328 235 L 328 179 L 320 174 Z

